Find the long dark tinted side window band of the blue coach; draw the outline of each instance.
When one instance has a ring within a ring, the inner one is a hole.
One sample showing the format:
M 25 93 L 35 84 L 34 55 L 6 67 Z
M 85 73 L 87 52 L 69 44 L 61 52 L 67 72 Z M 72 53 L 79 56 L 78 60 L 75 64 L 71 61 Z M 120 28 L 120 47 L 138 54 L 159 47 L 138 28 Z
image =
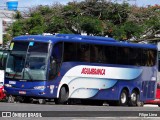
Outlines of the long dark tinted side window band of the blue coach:
M 153 66 L 156 62 L 156 51 L 142 48 L 66 42 L 64 44 L 64 61 Z

